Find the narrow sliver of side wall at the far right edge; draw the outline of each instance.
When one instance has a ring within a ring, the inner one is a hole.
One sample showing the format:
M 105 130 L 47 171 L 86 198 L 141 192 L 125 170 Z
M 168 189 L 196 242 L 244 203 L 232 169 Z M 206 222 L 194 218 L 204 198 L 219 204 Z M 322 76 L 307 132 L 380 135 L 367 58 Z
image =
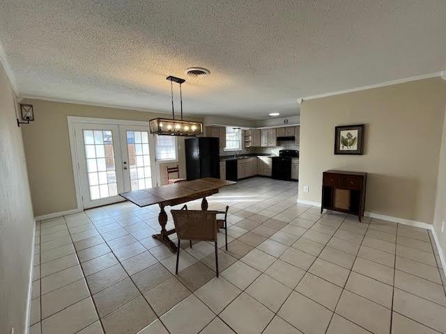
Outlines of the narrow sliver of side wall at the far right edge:
M 443 256 L 446 255 L 446 109 L 443 122 L 443 138 L 441 140 L 440 163 L 438 164 L 438 182 L 433 228 L 440 242 Z M 441 232 L 441 225 L 445 222 L 445 232 Z M 446 260 L 446 259 L 445 259 Z M 443 268 L 445 264 L 443 264 Z

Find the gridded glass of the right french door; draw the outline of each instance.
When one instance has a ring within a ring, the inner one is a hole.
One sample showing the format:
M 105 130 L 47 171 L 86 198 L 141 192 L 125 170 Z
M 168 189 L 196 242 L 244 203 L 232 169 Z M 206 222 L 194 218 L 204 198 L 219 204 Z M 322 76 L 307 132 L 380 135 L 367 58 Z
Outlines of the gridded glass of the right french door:
M 150 150 L 148 132 L 128 131 L 128 166 L 130 168 L 130 186 L 132 190 L 152 187 Z

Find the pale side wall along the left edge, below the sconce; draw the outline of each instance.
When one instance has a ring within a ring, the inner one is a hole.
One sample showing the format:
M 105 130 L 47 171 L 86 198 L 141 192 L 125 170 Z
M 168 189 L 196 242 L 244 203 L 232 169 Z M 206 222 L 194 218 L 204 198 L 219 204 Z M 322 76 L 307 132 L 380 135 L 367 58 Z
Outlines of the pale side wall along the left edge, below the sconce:
M 0 63 L 0 333 L 24 333 L 34 218 L 15 95 Z

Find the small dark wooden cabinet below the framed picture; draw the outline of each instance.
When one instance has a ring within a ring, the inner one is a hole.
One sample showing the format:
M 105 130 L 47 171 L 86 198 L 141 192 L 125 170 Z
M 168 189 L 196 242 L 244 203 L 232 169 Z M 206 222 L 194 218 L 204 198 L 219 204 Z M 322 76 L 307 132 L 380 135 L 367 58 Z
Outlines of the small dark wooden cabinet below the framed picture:
M 367 173 L 327 170 L 322 176 L 323 209 L 364 216 Z

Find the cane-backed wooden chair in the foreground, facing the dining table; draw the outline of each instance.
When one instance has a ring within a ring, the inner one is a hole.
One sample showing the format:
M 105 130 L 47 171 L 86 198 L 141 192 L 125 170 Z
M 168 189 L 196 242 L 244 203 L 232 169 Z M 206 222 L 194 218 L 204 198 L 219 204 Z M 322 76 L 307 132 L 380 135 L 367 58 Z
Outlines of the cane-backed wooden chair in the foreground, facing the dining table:
M 189 240 L 191 247 L 192 240 L 213 241 L 215 246 L 215 271 L 218 277 L 217 214 L 219 213 L 222 212 L 207 210 L 187 210 L 187 205 L 185 205 L 180 210 L 171 210 L 172 217 L 174 218 L 176 235 L 178 237 L 175 273 L 178 273 L 181 240 Z

